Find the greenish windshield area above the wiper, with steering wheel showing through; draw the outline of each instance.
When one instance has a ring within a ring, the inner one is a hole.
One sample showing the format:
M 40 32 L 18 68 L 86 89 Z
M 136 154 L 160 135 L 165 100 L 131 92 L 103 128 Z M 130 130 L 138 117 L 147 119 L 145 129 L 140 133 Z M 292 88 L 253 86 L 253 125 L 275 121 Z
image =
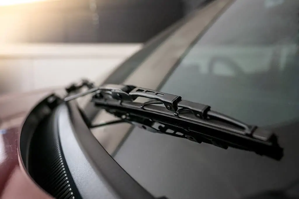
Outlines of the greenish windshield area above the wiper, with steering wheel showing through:
M 299 1 L 238 0 L 161 88 L 256 125 L 299 116 Z

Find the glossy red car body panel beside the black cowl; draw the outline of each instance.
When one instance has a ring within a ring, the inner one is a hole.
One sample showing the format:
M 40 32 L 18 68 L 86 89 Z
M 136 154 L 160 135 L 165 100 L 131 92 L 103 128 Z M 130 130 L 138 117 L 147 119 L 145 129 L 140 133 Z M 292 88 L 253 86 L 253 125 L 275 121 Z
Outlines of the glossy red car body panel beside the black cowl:
M 0 97 L 0 198 L 51 199 L 30 178 L 19 154 L 22 123 L 30 110 L 54 90 L 39 90 Z

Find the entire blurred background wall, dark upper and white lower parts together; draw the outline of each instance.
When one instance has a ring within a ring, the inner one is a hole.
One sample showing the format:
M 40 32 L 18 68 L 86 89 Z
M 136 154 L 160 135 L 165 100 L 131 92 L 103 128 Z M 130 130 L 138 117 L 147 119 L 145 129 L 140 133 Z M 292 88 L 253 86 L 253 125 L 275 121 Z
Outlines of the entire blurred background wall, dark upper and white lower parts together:
M 202 1 L 1 0 L 0 95 L 103 78 Z

